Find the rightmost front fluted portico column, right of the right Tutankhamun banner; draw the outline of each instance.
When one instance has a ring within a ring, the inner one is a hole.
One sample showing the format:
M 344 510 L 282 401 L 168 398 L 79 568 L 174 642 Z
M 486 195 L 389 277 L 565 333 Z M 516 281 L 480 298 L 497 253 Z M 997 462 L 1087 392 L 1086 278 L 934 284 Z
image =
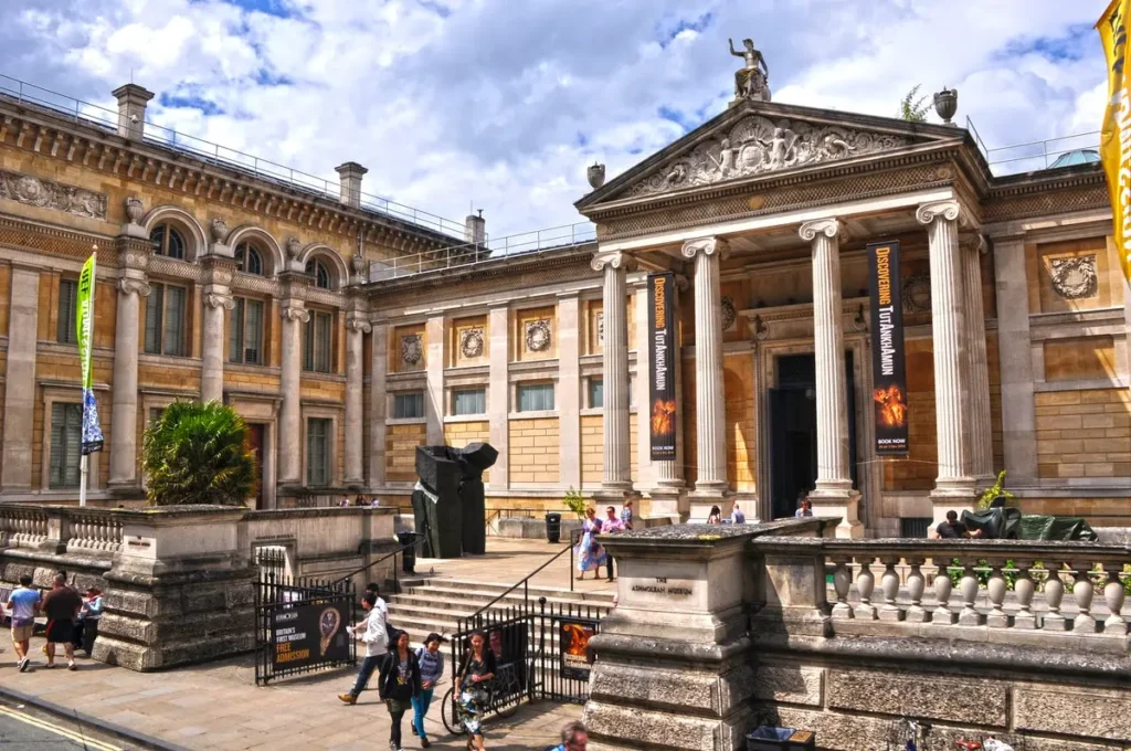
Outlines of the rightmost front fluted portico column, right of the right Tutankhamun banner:
M 915 217 L 927 227 L 931 254 L 931 328 L 934 334 L 935 421 L 939 435 L 939 476 L 935 480 L 935 521 L 951 508 L 974 501 L 974 478 L 966 467 L 962 441 L 962 366 L 966 321 L 962 269 L 958 244 L 958 201 L 918 207 Z

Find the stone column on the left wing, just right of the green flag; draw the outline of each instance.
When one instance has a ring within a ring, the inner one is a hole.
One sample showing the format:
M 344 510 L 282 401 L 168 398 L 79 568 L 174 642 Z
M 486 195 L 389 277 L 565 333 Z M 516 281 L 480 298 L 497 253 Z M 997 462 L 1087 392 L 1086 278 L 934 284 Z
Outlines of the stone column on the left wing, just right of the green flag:
M 110 481 L 132 487 L 138 482 L 138 323 L 141 297 L 149 295 L 146 267 L 148 238 L 119 241 L 118 305 L 114 319 L 114 390 L 110 412 Z

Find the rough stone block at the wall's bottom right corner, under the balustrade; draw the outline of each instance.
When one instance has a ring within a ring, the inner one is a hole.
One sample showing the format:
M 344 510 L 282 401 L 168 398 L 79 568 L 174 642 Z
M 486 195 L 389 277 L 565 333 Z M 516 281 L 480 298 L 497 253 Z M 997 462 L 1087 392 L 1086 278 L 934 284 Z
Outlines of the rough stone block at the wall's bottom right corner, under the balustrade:
M 1018 731 L 1131 741 L 1131 699 L 1126 692 L 1071 687 L 1018 688 L 1013 693 Z

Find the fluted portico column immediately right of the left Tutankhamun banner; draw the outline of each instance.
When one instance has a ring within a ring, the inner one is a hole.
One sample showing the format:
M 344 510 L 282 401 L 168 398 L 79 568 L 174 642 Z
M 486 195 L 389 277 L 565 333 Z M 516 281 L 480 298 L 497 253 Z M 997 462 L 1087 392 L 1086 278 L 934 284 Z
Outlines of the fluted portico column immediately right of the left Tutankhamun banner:
M 726 495 L 726 395 L 723 390 L 723 294 L 719 260 L 727 253 L 719 238 L 688 240 L 682 253 L 694 262 L 696 446 L 699 474 L 691 493 L 693 519 L 707 517 Z M 726 512 L 726 509 L 723 509 Z

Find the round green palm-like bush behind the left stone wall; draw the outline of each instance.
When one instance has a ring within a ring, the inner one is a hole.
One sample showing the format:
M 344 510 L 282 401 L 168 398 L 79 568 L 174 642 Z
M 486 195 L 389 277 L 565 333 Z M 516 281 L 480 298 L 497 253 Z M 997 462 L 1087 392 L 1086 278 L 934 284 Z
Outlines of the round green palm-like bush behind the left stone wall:
M 176 402 L 145 432 L 144 464 L 154 506 L 241 506 L 256 490 L 248 426 L 219 402 Z

